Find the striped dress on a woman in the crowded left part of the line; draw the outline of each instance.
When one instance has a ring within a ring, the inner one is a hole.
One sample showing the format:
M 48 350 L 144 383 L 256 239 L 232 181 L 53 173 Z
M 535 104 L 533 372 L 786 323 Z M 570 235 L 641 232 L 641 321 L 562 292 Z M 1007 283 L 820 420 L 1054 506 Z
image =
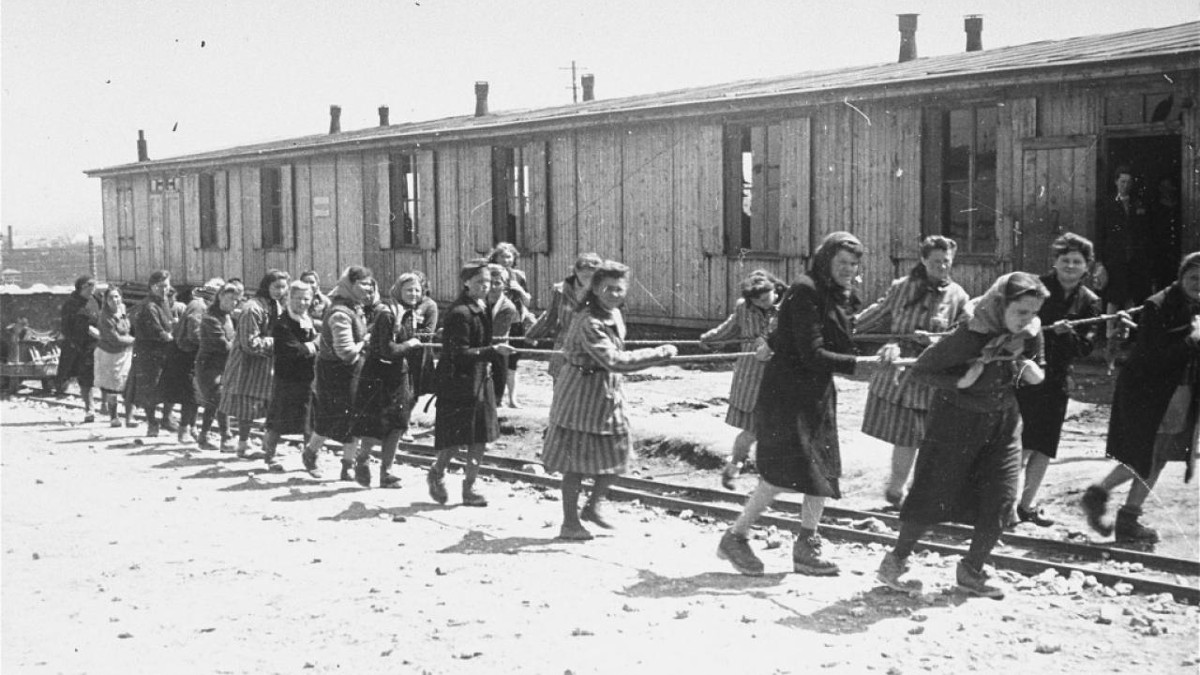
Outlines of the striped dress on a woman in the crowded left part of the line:
M 236 419 L 256 419 L 266 414 L 271 400 L 271 338 L 272 300 L 253 298 L 238 317 L 238 338 L 224 374 L 221 376 L 222 413 Z

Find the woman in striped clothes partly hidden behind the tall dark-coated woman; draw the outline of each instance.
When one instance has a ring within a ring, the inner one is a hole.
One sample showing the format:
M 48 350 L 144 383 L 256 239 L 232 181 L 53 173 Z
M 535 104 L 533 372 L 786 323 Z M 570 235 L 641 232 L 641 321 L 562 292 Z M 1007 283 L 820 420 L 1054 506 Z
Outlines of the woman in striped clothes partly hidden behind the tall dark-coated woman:
M 721 470 L 721 485 L 733 489 L 733 479 L 742 473 L 742 466 L 750 456 L 755 444 L 754 408 L 758 401 L 758 386 L 762 374 L 770 359 L 767 347 L 767 335 L 770 334 L 775 316 L 779 313 L 779 299 L 787 286 L 775 275 L 764 269 L 756 269 L 742 280 L 742 298 L 733 306 L 733 313 L 716 328 L 700 336 L 701 345 L 742 340 L 743 352 L 755 352 L 738 357 L 733 364 L 733 382 L 730 384 L 730 411 L 725 414 L 725 424 L 737 428 L 733 440 L 733 452 Z

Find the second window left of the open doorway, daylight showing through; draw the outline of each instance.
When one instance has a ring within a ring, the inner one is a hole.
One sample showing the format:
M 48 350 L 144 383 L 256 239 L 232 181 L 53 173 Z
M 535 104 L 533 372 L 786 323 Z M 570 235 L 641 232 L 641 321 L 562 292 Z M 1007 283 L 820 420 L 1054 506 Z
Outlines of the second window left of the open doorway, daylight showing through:
M 780 124 L 725 127 L 726 250 L 779 250 Z

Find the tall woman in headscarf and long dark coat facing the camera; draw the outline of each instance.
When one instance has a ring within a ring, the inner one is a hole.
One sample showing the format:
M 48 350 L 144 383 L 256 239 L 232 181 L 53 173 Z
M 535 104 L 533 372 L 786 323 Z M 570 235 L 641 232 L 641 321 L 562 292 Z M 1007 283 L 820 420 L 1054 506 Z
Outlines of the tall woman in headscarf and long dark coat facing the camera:
M 841 497 L 841 450 L 838 446 L 835 372 L 853 375 L 859 364 L 851 340 L 851 316 L 858 309 L 853 291 L 863 244 L 848 232 L 826 237 L 806 275 L 793 283 L 779 305 L 778 327 L 755 405 L 758 485 L 742 515 L 721 537 L 718 556 L 742 574 L 761 575 L 762 561 L 750 549 L 755 520 L 781 492 L 804 495 L 800 532 L 792 546 L 792 568 L 800 574 L 838 574 L 838 565 L 821 554 L 817 534 L 829 497 Z

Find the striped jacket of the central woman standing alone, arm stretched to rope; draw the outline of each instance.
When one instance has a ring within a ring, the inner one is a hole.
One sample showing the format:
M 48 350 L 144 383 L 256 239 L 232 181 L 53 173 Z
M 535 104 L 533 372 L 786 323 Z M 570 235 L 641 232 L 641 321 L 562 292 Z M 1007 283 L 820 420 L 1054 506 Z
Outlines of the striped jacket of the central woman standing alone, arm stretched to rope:
M 607 318 L 581 311 L 563 340 L 564 364 L 554 380 L 550 423 L 602 436 L 629 432 L 622 372 L 668 360 L 665 347 L 626 351 L 620 310 Z

